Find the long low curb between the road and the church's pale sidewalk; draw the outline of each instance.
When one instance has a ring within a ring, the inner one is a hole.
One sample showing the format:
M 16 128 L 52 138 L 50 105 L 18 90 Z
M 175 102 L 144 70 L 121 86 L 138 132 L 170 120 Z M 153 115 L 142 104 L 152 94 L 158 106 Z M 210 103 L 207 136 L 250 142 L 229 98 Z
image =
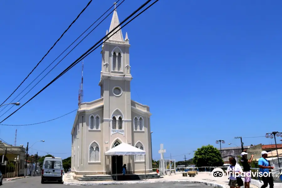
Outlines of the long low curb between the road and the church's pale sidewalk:
M 75 183 L 75 182 L 64 182 L 65 185 L 124 185 L 124 184 L 137 184 L 137 183 L 166 183 L 166 182 L 190 182 L 190 183 L 201 183 L 204 185 L 210 185 L 216 188 L 227 188 L 225 185 L 211 183 L 208 181 L 196 181 L 196 180 L 157 180 L 157 181 L 123 181 L 123 182 L 104 182 L 104 183 Z

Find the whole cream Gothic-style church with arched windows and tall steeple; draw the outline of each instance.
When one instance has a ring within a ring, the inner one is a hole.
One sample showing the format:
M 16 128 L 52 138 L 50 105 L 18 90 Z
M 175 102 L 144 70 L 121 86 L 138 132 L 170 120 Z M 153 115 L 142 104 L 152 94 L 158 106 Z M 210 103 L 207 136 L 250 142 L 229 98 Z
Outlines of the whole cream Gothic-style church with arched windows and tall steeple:
M 118 24 L 115 9 L 109 32 Z M 152 114 L 149 106 L 131 100 L 128 34 L 123 39 L 121 30 L 112 35 L 114 32 L 102 45 L 101 97 L 79 105 L 71 130 L 71 171 L 77 176 L 121 174 L 124 164 L 130 174 L 145 173 L 145 168 L 146 173 L 153 172 Z M 146 155 L 105 155 L 121 143 L 144 150 Z

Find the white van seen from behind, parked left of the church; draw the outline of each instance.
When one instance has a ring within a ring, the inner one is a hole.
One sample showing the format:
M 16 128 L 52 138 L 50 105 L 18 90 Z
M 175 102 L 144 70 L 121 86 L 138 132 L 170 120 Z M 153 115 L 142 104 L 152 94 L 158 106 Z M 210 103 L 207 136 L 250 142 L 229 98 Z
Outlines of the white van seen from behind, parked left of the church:
M 63 182 L 62 158 L 45 157 L 41 171 L 41 183 L 44 183 L 46 180 Z

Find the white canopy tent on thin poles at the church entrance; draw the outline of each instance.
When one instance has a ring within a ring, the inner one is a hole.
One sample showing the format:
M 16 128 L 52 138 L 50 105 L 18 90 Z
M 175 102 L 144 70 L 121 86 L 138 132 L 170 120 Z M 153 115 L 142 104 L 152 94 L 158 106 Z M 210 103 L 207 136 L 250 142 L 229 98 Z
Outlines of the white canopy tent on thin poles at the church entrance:
M 135 148 L 134 146 L 131 146 L 126 143 L 119 144 L 118 146 L 108 150 L 105 152 L 105 156 L 117 156 L 117 155 L 144 155 L 145 159 L 145 177 L 146 177 L 146 151 L 142 149 Z M 116 163 L 117 165 L 117 163 Z M 117 166 L 116 166 L 116 175 L 118 174 Z M 117 177 L 118 180 L 118 177 Z

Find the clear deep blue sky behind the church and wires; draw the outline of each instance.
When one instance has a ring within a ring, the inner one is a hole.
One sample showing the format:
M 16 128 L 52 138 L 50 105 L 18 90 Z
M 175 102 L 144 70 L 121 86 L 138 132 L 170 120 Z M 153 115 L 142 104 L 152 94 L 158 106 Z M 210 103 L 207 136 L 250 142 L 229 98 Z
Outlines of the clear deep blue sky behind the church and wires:
M 126 0 L 118 8 L 120 21 L 143 2 Z M 87 3 L 86 0 L 0 2 L 1 103 Z M 112 3 L 93 0 L 13 98 Z M 131 44 L 131 97 L 149 105 L 153 114 L 154 159 L 159 158 L 160 143 L 167 150 L 165 156 L 171 153 L 176 156 L 173 158 L 182 160 L 184 154 L 191 158 L 193 150 L 202 145 L 216 145 L 218 139 L 239 145 L 240 140 L 234 139 L 235 136 L 256 137 L 282 131 L 281 7 L 278 0 L 161 0 L 122 30 L 123 36 L 128 32 Z M 111 17 L 20 102 L 26 102 L 102 38 Z M 100 97 L 99 52 L 97 49 L 84 60 L 84 101 Z M 80 80 L 79 64 L 4 123 L 37 123 L 75 110 Z M 45 143 L 34 145 L 33 153 L 37 150 L 68 153 L 54 154 L 66 158 L 71 152 L 74 118 L 75 112 L 34 126 L 1 126 L 0 138 L 13 144 L 17 128 L 17 145 L 44 139 Z M 271 141 L 274 143 L 270 138 L 243 140 L 245 145 Z M 43 154 L 39 151 L 39 155 Z

